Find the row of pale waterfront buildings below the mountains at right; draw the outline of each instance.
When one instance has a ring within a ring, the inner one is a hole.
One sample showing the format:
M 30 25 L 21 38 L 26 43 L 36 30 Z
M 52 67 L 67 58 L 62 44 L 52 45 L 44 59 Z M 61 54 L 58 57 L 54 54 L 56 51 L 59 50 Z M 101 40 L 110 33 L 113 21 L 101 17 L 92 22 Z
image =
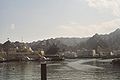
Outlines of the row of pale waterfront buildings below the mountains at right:
M 110 58 L 120 57 L 120 50 L 98 48 L 96 50 L 79 49 L 77 51 L 65 51 L 62 55 L 66 58 Z

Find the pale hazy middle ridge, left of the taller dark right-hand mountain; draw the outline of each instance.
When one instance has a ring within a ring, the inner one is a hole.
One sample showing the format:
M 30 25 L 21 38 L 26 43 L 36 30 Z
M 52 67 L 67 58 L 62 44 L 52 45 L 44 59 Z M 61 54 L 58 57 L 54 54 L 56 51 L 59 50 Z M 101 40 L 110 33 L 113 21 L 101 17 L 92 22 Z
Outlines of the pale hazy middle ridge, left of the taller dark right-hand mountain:
M 43 41 L 37 41 L 29 43 L 28 45 L 33 50 L 39 50 L 39 49 L 48 49 L 53 44 L 57 45 L 61 50 L 73 48 L 74 46 L 86 42 L 89 38 L 51 38 Z

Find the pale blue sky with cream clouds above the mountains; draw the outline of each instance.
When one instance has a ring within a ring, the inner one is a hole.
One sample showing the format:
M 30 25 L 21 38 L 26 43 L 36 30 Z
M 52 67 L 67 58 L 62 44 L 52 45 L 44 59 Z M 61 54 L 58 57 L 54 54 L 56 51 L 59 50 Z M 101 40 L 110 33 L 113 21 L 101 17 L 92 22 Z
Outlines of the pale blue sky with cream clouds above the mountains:
M 0 0 L 0 43 L 91 37 L 120 27 L 120 0 Z

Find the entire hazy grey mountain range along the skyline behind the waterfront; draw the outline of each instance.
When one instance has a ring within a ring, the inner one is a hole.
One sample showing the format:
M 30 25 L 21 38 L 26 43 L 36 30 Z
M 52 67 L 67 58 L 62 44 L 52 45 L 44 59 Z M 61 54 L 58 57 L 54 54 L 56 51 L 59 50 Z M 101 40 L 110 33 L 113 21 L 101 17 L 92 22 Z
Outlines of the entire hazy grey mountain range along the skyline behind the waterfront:
M 21 45 L 21 42 L 13 42 L 15 46 Z M 95 34 L 87 38 L 51 38 L 42 41 L 24 43 L 33 50 L 48 49 L 52 45 L 56 45 L 60 50 L 78 50 L 78 49 L 95 49 L 100 46 L 103 49 L 119 50 L 120 49 L 120 29 L 116 29 L 109 34 Z M 4 45 L 4 44 L 3 44 Z M 0 44 L 0 48 L 2 44 Z

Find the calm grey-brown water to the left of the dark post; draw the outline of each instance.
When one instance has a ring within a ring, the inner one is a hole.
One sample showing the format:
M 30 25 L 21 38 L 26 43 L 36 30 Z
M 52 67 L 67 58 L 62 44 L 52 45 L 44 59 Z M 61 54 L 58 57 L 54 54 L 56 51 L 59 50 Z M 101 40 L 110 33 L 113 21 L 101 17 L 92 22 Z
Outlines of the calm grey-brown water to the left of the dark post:
M 33 62 L 1 63 L 0 78 L 2 80 L 33 80 L 34 78 L 40 80 L 40 68 L 37 68 L 37 65 Z

